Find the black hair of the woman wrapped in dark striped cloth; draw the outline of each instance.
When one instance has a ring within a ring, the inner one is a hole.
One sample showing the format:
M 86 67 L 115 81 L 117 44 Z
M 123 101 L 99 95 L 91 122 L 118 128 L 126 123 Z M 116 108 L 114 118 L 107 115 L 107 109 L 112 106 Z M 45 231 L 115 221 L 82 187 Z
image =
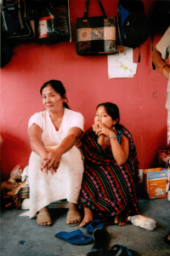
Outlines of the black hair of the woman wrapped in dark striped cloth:
M 105 108 L 106 113 L 108 113 L 113 120 L 117 121 L 115 128 L 121 129 L 122 125 L 119 124 L 119 120 L 120 120 L 119 108 L 116 106 L 116 104 L 111 102 L 100 103 L 96 109 L 98 109 L 101 106 Z

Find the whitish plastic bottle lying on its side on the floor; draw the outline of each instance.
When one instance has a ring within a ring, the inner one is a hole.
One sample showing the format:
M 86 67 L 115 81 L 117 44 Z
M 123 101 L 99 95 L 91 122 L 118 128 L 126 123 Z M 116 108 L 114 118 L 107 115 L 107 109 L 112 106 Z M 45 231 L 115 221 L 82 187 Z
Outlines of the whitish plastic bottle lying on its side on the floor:
M 145 230 L 154 230 L 156 228 L 156 221 L 153 218 L 147 218 L 142 215 L 128 216 L 128 220 L 132 222 L 133 225 L 139 226 Z

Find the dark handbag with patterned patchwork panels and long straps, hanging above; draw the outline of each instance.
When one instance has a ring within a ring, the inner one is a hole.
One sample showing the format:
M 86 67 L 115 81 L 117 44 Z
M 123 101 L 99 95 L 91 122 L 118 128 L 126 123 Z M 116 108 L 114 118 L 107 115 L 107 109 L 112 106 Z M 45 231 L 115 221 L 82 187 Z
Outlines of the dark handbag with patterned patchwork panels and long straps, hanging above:
M 116 53 L 116 16 L 88 17 L 89 0 L 83 18 L 77 18 L 77 55 L 109 55 Z

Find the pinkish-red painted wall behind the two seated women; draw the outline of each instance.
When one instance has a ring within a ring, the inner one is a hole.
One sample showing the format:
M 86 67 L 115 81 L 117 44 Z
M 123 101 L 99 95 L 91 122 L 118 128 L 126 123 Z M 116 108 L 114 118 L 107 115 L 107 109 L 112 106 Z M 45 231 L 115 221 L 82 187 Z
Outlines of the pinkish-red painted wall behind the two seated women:
M 143 2 L 149 16 L 154 1 Z M 116 15 L 118 0 L 103 3 L 107 15 Z M 158 149 L 167 147 L 167 81 L 152 70 L 150 38 L 140 47 L 141 61 L 133 78 L 108 79 L 107 56 L 76 54 L 75 22 L 83 15 L 84 6 L 85 0 L 70 1 L 71 43 L 39 46 L 23 41 L 14 47 L 8 65 L 1 68 L 2 178 L 9 177 L 14 166 L 24 169 L 28 165 L 27 124 L 33 113 L 43 110 L 39 89 L 49 79 L 63 82 L 69 105 L 83 114 L 86 130 L 93 125 L 97 104 L 115 102 L 121 123 L 133 134 L 140 168 L 158 166 Z M 92 0 L 89 15 L 101 15 L 97 0 Z M 138 48 L 133 53 L 137 62 Z

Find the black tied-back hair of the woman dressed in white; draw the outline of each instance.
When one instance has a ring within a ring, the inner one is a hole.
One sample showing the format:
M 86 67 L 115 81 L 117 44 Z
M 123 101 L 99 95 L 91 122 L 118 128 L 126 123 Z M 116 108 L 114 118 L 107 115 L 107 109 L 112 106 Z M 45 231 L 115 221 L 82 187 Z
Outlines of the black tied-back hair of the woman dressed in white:
M 61 81 L 59 80 L 49 80 L 48 82 L 42 84 L 42 87 L 40 89 L 40 93 L 42 95 L 42 90 L 47 87 L 48 85 L 50 85 L 57 93 L 59 93 L 59 95 L 61 96 L 61 98 L 65 98 L 65 87 L 64 85 L 61 83 Z M 65 108 L 69 108 L 69 106 L 67 105 L 67 103 L 63 102 L 63 107 Z

